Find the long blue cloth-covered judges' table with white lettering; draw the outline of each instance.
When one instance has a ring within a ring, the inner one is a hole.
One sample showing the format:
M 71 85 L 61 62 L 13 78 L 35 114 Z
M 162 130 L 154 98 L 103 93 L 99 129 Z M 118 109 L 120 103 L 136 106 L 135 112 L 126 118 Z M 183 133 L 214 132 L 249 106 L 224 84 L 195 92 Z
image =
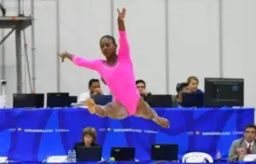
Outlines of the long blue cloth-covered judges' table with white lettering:
M 0 156 L 14 161 L 42 161 L 66 155 L 81 141 L 84 127 L 96 127 L 102 156 L 113 146 L 136 146 L 136 158 L 150 160 L 151 144 L 179 144 L 179 157 L 189 151 L 226 158 L 230 144 L 254 122 L 254 109 L 155 109 L 171 122 L 163 129 L 137 117 L 113 120 L 90 115 L 85 109 L 0 110 Z

